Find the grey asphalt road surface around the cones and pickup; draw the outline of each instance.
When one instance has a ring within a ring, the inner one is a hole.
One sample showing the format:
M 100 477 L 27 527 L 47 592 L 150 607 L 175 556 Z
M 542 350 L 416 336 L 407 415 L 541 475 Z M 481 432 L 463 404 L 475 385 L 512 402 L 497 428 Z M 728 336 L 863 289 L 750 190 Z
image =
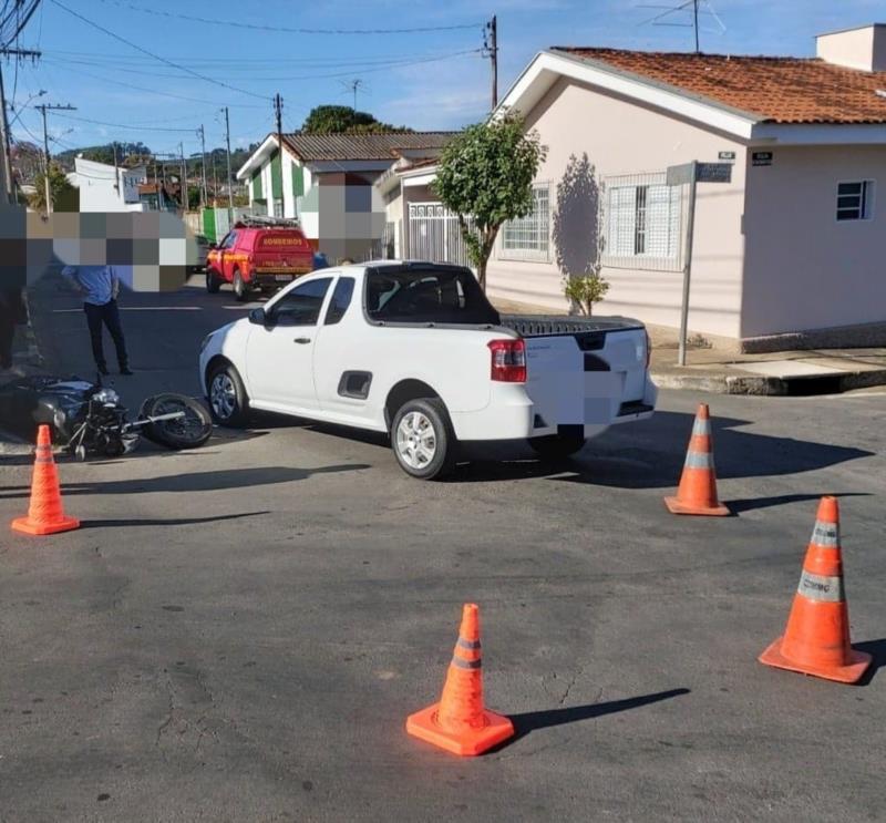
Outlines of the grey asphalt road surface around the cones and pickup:
M 196 289 L 125 305 L 133 404 L 196 392 L 199 339 L 243 313 Z M 86 373 L 71 308 L 47 284 L 37 322 Z M 733 517 L 661 502 L 700 400 Z M 83 527 L 0 538 L 0 820 L 883 820 L 884 409 L 664 392 L 568 467 L 505 450 L 436 484 L 375 436 L 271 419 L 65 462 Z M 0 464 L 7 521 L 29 471 Z M 756 662 L 825 493 L 876 655 L 856 687 Z M 517 728 L 475 760 L 403 729 L 465 601 L 487 706 Z

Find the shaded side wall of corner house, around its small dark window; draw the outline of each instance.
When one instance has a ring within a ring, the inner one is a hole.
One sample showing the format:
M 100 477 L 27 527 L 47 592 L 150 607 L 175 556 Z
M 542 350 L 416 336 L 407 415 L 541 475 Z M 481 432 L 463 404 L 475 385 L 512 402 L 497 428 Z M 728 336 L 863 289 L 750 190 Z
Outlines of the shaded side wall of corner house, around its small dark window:
M 886 146 L 772 152 L 746 173 L 741 336 L 886 321 Z M 837 222 L 837 183 L 862 179 L 873 218 Z

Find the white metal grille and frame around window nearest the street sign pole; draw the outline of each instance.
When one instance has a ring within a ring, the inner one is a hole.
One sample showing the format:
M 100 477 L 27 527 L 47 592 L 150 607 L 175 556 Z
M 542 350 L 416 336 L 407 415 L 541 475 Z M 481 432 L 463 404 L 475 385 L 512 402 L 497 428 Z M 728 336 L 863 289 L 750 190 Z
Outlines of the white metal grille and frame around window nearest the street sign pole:
M 682 271 L 688 186 L 669 186 L 664 172 L 646 172 L 605 177 L 600 194 L 605 267 Z

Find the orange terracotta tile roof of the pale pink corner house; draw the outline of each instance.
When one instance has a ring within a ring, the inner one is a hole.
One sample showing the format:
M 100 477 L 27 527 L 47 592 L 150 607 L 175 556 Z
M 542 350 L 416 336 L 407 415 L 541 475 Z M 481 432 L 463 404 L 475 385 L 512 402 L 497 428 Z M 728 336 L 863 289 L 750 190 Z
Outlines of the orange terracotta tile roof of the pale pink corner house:
M 886 72 L 818 59 L 554 47 L 772 123 L 886 123 Z M 877 92 L 883 92 L 878 94 Z

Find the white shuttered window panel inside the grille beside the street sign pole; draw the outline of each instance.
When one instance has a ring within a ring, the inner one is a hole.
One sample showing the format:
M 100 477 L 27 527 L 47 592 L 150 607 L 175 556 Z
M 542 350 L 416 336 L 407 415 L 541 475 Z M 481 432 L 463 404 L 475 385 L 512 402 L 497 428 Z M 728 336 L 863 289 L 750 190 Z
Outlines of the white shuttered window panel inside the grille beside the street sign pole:
M 607 189 L 606 205 L 606 258 L 670 260 L 678 257 L 681 207 L 679 186 L 611 186 Z

